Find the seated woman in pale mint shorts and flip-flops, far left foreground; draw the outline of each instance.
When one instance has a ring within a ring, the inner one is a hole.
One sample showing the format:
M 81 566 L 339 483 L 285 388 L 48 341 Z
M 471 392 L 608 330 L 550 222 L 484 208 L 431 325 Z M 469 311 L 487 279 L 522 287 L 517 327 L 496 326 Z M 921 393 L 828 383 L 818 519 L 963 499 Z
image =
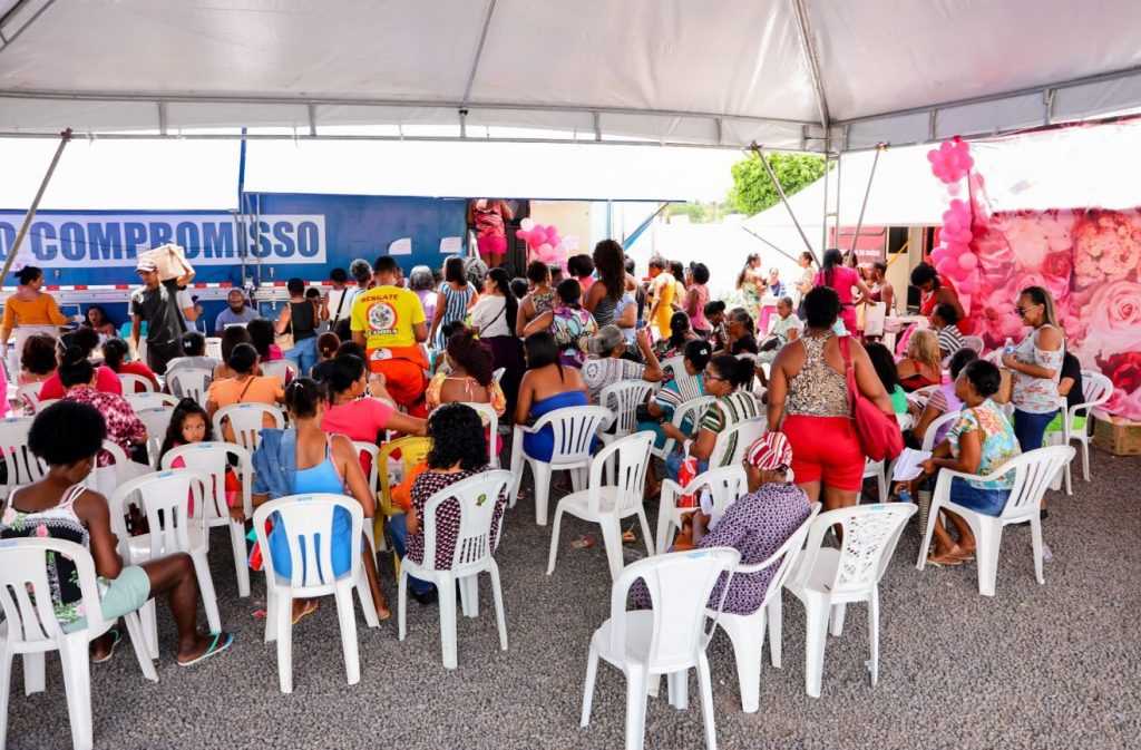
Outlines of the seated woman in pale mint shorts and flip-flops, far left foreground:
M 51 537 L 82 545 L 91 553 L 95 573 L 105 584 L 99 587 L 104 620 L 114 621 L 135 612 L 152 597 L 165 598 L 178 630 L 178 663 L 188 667 L 220 654 L 229 648 L 234 636 L 197 631 L 199 584 L 189 555 L 179 553 L 141 565 L 123 565 L 119 541 L 111 531 L 107 499 L 84 486 L 106 437 L 103 414 L 90 404 L 63 401 L 38 414 L 27 434 L 27 446 L 48 465 L 48 473 L 8 498 L 0 517 L 0 539 Z M 56 583 L 51 607 L 59 626 L 64 632 L 83 629 L 87 618 L 79 606 L 81 592 L 74 564 L 49 555 L 48 566 L 54 568 L 49 573 Z M 91 642 L 91 660 L 102 663 L 111 659 L 119 637 L 118 631 L 108 630 Z

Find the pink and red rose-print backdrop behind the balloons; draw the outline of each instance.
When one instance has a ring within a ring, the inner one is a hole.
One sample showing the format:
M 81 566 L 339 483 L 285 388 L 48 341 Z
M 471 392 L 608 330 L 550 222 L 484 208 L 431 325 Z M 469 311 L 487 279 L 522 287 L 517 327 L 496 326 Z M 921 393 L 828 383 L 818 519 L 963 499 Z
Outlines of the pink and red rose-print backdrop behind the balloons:
M 1008 337 L 1021 339 L 1018 292 L 1045 287 L 1070 352 L 1084 369 L 1114 382 L 1108 410 L 1141 421 L 1141 209 L 987 215 L 978 210 L 981 191 L 972 193 L 976 332 L 988 347 L 1002 346 Z

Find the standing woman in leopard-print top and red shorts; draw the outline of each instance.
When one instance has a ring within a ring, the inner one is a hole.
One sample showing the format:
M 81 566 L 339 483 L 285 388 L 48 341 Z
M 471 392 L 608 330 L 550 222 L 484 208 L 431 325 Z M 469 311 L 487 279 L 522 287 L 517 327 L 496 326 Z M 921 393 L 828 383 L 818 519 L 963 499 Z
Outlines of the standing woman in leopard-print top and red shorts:
M 832 326 L 840 297 L 827 287 L 804 295 L 806 329 L 777 355 L 769 374 L 769 429 L 792 444 L 795 482 L 825 510 L 856 505 L 864 482 L 864 451 L 851 419 L 840 339 Z M 849 338 L 856 386 L 883 413 L 895 419 L 891 398 L 867 352 Z M 823 490 L 823 492 L 822 492 Z

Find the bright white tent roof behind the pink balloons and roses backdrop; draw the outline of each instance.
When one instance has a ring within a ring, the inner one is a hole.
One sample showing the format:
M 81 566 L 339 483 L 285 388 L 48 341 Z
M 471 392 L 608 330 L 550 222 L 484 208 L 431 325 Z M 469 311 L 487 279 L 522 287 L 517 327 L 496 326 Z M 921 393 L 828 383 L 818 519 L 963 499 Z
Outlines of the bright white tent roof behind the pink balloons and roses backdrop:
M 938 226 L 950 197 L 931 174 L 928 146 L 889 148 L 880 155 L 868 194 L 864 226 Z M 1131 209 L 1141 205 L 1133 162 L 1141 153 L 1141 120 L 1077 126 L 989 138 L 971 143 L 976 169 L 986 183 L 993 211 L 1050 209 Z M 841 159 L 840 210 L 828 225 L 853 227 L 859 220 L 874 153 Z M 828 183 L 836 189 L 836 180 Z M 835 196 L 830 199 L 834 205 Z M 823 239 L 824 182 L 817 180 L 790 196 L 796 219 L 812 247 Z M 803 241 L 784 205 L 748 218 L 748 231 L 786 251 Z

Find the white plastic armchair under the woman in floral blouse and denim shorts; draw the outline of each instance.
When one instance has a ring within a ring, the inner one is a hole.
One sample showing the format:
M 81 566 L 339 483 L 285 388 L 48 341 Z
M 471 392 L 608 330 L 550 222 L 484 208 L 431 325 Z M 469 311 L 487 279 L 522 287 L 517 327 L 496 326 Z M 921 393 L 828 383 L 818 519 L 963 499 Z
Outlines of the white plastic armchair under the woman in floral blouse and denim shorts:
M 974 558 L 979 568 L 979 594 L 995 595 L 995 583 L 998 580 L 998 548 L 1002 545 L 1002 530 L 1011 524 L 1030 522 L 1030 539 L 1034 548 L 1034 573 L 1039 584 L 1046 581 L 1042 575 L 1042 495 L 1065 463 L 1074 460 L 1077 451 L 1070 445 L 1051 445 L 1028 451 L 1017 455 L 998 467 L 988 476 L 978 476 L 941 469 L 936 479 L 934 493 L 931 497 L 931 513 L 928 517 L 923 543 L 920 546 L 920 558 L 916 567 L 921 571 L 926 565 L 928 548 L 931 534 L 934 532 L 936 518 L 940 510 L 958 514 L 971 527 L 974 534 Z M 1002 514 L 988 516 L 972 510 L 950 500 L 950 483 L 955 477 L 974 481 L 995 481 L 1013 473 L 1013 486 L 1010 498 L 1003 506 Z

